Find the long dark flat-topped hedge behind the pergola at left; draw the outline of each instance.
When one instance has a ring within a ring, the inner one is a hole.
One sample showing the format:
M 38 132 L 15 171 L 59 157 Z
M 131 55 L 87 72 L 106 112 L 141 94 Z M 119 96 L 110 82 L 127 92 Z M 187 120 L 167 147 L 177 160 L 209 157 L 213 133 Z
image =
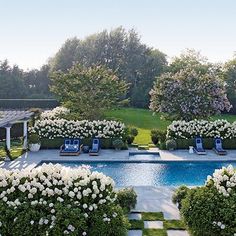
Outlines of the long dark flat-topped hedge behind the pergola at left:
M 0 99 L 1 109 L 54 108 L 58 105 L 56 99 Z

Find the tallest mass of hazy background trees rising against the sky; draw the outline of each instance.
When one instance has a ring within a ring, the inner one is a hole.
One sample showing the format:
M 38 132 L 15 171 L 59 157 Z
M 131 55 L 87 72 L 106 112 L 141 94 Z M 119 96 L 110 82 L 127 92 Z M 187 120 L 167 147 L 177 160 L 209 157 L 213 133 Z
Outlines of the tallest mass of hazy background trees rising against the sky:
M 167 65 L 166 55 L 141 43 L 135 30 L 118 27 L 104 30 L 84 40 L 67 40 L 49 64 L 51 71 L 66 71 L 73 64 L 103 65 L 130 83 L 127 98 L 133 106 L 147 107 L 149 91 L 156 76 Z

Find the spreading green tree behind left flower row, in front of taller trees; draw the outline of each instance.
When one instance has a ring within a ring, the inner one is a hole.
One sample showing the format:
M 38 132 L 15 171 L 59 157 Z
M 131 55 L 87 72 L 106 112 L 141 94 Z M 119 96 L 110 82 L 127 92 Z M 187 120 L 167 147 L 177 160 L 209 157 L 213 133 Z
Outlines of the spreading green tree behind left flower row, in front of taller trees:
M 62 104 L 80 118 L 98 119 L 103 112 L 127 102 L 127 83 L 104 66 L 73 66 L 52 75 L 51 90 Z

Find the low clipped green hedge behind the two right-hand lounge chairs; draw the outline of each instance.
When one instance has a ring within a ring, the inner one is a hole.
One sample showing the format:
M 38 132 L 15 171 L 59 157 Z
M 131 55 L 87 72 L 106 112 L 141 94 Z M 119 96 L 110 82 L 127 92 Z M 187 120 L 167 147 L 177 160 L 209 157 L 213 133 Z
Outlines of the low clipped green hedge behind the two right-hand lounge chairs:
M 177 149 L 188 149 L 189 146 L 195 146 L 194 139 L 176 139 Z M 203 146 L 205 149 L 212 149 L 214 147 L 213 138 L 204 138 Z M 223 140 L 223 148 L 236 149 L 236 138 Z

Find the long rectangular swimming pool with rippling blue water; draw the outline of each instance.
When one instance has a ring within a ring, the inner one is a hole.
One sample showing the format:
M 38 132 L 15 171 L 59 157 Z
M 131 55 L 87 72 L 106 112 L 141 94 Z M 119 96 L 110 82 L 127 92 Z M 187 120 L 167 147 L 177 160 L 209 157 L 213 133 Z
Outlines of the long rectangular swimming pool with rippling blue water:
M 48 162 L 47 162 L 48 163 Z M 89 165 L 92 171 L 110 176 L 116 186 L 188 186 L 203 185 L 207 175 L 215 169 L 236 162 L 218 161 L 166 161 L 166 162 L 60 162 L 64 166 L 76 168 Z

